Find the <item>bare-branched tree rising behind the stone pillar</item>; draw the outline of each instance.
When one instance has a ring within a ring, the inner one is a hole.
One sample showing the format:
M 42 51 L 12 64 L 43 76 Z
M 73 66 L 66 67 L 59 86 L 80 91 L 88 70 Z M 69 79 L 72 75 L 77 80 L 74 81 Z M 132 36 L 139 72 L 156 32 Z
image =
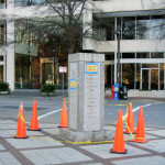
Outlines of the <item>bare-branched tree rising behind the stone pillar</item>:
M 88 10 L 87 3 L 91 3 L 90 0 L 45 0 L 38 3 L 35 10 L 40 11 L 46 7 L 41 12 L 46 13 L 46 16 L 18 20 L 16 35 L 21 33 L 21 40 L 24 42 L 33 40 L 37 46 L 48 45 L 55 52 L 55 47 L 59 46 L 61 50 L 67 50 L 68 54 L 78 52 L 82 36 L 91 28 L 82 32 L 82 13 Z M 29 3 L 32 4 L 33 1 Z

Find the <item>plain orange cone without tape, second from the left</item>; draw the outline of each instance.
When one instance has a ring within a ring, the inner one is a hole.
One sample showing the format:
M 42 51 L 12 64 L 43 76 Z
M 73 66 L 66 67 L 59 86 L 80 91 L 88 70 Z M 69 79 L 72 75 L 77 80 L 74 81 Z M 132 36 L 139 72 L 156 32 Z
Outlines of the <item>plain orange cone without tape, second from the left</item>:
M 36 107 L 36 100 L 34 100 L 33 103 L 33 111 L 32 111 L 32 118 L 31 118 L 31 125 L 30 125 L 30 131 L 41 131 L 38 129 L 38 122 L 37 122 L 37 107 Z

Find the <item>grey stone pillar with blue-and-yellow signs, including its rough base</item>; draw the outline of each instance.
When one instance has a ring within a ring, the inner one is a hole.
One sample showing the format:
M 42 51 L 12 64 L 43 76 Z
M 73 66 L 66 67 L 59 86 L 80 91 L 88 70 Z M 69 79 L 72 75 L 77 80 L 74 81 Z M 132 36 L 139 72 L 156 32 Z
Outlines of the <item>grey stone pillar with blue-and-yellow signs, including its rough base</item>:
M 68 56 L 69 128 L 59 130 L 70 141 L 111 140 L 105 122 L 105 55 L 77 53 Z

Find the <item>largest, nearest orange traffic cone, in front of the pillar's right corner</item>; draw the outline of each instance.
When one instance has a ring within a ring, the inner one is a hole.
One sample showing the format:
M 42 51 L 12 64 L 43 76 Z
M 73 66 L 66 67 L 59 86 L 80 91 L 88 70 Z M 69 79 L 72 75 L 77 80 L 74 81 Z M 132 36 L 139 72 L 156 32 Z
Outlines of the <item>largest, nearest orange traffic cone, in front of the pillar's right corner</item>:
M 127 154 L 127 150 L 124 148 L 122 110 L 119 110 L 119 113 L 118 113 L 118 122 L 117 122 L 117 129 L 116 129 L 114 143 L 113 143 L 113 148 L 111 148 L 110 152 L 117 153 L 117 154 Z

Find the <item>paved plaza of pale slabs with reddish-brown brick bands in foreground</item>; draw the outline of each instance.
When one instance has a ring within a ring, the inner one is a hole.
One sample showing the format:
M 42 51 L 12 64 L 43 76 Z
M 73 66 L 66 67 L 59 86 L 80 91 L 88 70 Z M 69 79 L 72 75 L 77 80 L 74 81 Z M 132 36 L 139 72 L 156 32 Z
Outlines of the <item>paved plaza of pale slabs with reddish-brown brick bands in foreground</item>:
M 164 165 L 165 128 L 145 128 L 147 143 L 125 142 L 127 154 L 112 154 L 112 143 L 66 144 L 57 125 L 41 123 L 42 131 L 28 131 L 28 139 L 13 139 L 16 121 L 0 120 L 0 165 Z M 111 125 L 116 127 L 116 125 Z M 111 129 L 107 127 L 107 129 Z M 26 129 L 29 127 L 26 125 Z M 113 128 L 114 129 L 114 128 Z M 124 135 L 124 139 L 130 135 Z

